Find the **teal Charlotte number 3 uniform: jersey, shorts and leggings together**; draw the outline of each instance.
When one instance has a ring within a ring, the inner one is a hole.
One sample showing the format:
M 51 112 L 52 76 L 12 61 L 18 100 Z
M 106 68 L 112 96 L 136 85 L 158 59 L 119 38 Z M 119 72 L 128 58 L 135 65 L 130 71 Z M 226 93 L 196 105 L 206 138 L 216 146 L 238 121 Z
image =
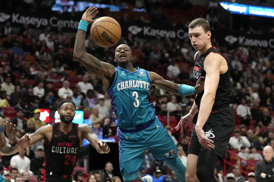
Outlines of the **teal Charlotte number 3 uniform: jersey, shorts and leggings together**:
M 113 84 L 107 93 L 116 115 L 119 164 L 124 181 L 139 177 L 144 152 L 148 149 L 156 161 L 165 161 L 174 169 L 177 177 L 176 169 L 180 169 L 182 175 L 178 179 L 185 181 L 186 167 L 177 158 L 176 145 L 155 116 L 153 104 L 150 103 L 151 80 L 148 71 L 137 68 L 131 73 L 116 67 L 113 77 Z

